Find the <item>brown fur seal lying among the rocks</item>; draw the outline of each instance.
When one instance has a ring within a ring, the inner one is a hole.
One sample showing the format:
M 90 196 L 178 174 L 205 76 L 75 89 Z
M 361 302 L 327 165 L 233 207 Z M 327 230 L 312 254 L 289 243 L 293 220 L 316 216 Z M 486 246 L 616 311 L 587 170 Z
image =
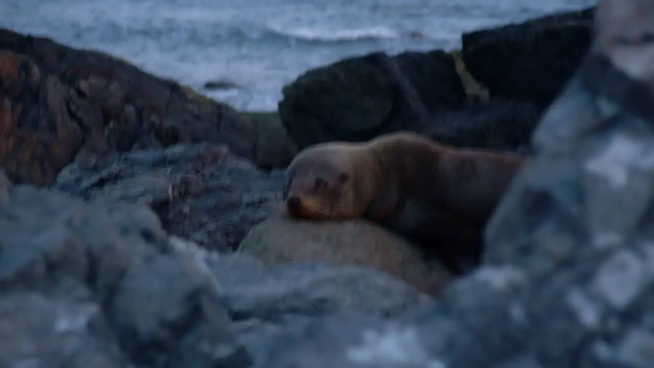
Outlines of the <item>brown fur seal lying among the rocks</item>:
M 479 265 L 485 223 L 525 159 L 413 132 L 318 143 L 286 169 L 284 208 L 296 218 L 368 219 L 463 274 Z

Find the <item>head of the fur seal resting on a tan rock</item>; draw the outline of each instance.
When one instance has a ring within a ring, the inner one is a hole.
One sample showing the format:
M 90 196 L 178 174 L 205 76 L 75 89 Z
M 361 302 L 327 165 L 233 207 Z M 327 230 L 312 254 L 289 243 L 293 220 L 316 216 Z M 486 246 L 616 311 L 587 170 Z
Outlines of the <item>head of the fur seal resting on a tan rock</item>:
M 339 220 L 361 217 L 364 193 L 355 176 L 362 173 L 349 143 L 322 143 L 301 151 L 286 169 L 284 208 L 291 217 Z

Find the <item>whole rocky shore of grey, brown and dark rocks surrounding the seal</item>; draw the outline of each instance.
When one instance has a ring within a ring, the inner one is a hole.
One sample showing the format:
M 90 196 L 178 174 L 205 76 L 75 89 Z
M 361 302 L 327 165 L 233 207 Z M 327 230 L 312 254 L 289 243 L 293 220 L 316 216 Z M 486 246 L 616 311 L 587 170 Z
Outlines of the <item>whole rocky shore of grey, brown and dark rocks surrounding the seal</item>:
M 0 29 L 0 367 L 651 367 L 654 116 L 583 79 L 594 12 L 341 60 L 277 113 Z M 470 276 L 281 212 L 298 149 L 397 130 L 534 156 Z

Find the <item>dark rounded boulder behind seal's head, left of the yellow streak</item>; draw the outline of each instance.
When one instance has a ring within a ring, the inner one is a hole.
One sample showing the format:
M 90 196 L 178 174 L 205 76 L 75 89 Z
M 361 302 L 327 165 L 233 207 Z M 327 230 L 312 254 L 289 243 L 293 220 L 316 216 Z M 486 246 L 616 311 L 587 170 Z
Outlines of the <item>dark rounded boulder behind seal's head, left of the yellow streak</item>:
M 298 149 L 332 140 L 365 141 L 421 130 L 428 113 L 459 109 L 466 92 L 441 50 L 373 52 L 312 69 L 283 88 L 279 115 Z

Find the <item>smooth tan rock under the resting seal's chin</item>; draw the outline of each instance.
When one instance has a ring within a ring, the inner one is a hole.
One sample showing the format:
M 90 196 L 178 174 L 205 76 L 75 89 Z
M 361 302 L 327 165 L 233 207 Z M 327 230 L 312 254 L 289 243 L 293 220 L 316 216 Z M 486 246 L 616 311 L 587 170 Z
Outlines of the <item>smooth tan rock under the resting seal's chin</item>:
M 426 260 L 416 246 L 365 220 L 294 221 L 275 215 L 250 230 L 238 251 L 254 255 L 264 265 L 326 261 L 376 268 L 431 295 L 438 295 L 453 278 L 443 265 Z

